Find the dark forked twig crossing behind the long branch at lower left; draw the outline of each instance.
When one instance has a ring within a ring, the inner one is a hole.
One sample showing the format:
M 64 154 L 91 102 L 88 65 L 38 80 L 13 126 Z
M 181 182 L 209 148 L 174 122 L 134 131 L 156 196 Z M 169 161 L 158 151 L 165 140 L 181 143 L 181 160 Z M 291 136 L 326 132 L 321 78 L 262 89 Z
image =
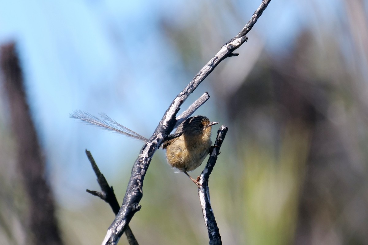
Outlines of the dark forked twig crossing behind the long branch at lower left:
M 97 182 L 100 185 L 101 192 L 98 191 L 90 191 L 86 190 L 88 193 L 95 195 L 99 198 L 101 198 L 103 201 L 109 203 L 110 207 L 112 208 L 115 215 L 119 212 L 120 205 L 116 199 L 114 189 L 113 187 L 107 183 L 107 180 L 105 176 L 100 172 L 100 169 L 98 168 L 95 159 L 93 159 L 93 156 L 90 151 L 86 150 L 86 155 L 88 157 L 89 162 L 92 165 L 93 171 L 95 172 L 97 176 Z M 135 239 L 132 230 L 129 226 L 127 226 L 126 230 L 124 231 L 125 235 L 127 236 L 128 242 L 130 245 L 138 245 L 137 239 Z

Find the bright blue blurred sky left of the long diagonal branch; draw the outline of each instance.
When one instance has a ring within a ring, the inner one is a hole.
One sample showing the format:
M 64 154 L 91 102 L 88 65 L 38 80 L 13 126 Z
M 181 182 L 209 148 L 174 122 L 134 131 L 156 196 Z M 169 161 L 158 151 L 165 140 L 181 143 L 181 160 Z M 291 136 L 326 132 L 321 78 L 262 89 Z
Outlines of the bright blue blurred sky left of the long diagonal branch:
M 171 79 L 185 77 L 168 72 L 180 61 L 158 30 L 160 11 L 174 6 L 144 1 L 0 2 L 0 42 L 17 42 L 49 179 L 63 202 L 71 190 L 84 190 L 95 179 L 84 149 L 91 150 L 96 161 L 109 162 L 100 167 L 111 176 L 124 154 L 137 155 L 142 145 L 79 123 L 69 113 L 105 112 L 148 137 L 180 91 Z M 162 94 L 162 87 L 175 90 Z M 151 93 L 160 99 L 152 100 Z

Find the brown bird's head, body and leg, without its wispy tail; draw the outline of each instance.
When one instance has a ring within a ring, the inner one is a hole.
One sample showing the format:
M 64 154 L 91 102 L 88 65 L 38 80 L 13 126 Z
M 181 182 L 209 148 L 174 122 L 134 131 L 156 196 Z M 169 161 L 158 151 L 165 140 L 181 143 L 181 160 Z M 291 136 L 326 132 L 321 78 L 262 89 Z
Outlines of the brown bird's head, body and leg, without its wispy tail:
M 166 149 L 167 162 L 187 174 L 195 183 L 187 171 L 199 167 L 209 153 L 212 146 L 211 126 L 218 122 L 210 122 L 205 116 L 193 116 L 184 120 L 176 129 L 175 133 L 183 133 L 181 136 L 163 143 Z

